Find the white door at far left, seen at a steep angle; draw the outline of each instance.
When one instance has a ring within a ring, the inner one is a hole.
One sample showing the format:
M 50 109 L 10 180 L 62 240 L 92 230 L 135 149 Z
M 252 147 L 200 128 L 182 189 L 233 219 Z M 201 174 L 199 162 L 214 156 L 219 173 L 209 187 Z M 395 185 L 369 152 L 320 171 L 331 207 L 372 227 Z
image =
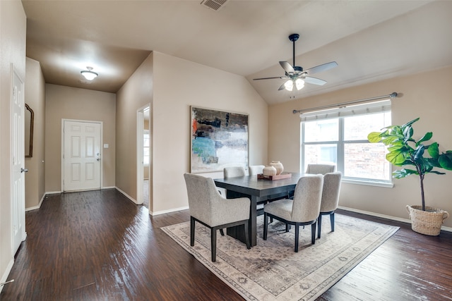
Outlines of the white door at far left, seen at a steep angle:
M 13 228 L 13 254 L 16 254 L 20 242 L 25 240 L 25 149 L 24 149 L 24 113 L 23 81 L 13 70 L 11 87 L 11 221 Z

